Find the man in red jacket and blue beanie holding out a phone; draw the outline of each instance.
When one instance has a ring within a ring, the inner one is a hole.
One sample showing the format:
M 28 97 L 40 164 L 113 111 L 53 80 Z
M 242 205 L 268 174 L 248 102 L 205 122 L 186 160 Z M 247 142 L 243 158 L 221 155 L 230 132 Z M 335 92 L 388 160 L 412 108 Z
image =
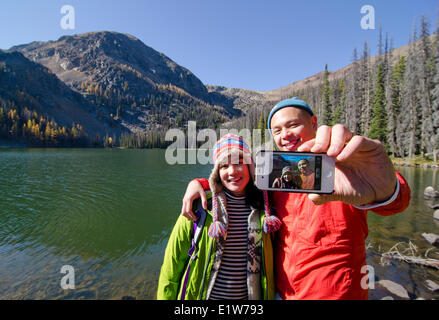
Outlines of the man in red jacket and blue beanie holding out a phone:
M 355 136 L 343 125 L 317 128 L 317 118 L 297 98 L 279 102 L 268 129 L 281 151 L 325 152 L 336 159 L 331 195 L 274 192 L 282 221 L 275 244 L 276 289 L 282 299 L 367 299 L 367 210 L 387 216 L 404 211 L 410 188 L 382 144 Z M 189 183 L 182 214 L 193 219 L 192 201 L 207 180 Z

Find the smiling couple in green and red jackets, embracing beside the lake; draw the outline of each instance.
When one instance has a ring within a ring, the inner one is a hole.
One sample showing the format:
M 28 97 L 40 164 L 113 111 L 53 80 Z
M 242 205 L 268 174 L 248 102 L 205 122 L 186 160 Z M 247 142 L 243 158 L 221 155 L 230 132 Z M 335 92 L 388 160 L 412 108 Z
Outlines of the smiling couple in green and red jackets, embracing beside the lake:
M 340 124 L 317 127 L 317 117 L 298 98 L 275 105 L 267 125 L 280 151 L 335 158 L 334 193 L 262 192 L 254 186 L 243 139 L 221 138 L 209 179 L 187 187 L 166 248 L 158 299 L 368 299 L 362 281 L 367 211 L 404 211 L 410 202 L 407 182 L 380 141 Z M 196 199 L 207 214 L 193 245 Z

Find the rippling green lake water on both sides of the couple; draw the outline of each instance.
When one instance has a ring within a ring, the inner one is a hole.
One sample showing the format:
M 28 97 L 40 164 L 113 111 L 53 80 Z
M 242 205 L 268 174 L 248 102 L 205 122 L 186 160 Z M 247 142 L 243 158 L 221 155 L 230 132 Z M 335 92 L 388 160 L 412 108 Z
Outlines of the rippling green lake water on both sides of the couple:
M 187 182 L 211 166 L 168 165 L 164 150 L 0 150 L 0 299 L 154 299 L 167 238 Z M 369 213 L 368 264 L 378 280 L 402 284 L 413 297 L 439 298 L 425 280 L 439 271 L 391 261 L 378 252 L 439 234 L 423 199 L 439 186 L 434 169 L 398 168 L 412 187 L 408 210 L 392 217 Z M 439 200 L 438 200 L 439 201 Z M 439 259 L 438 249 L 430 251 Z M 72 266 L 75 289 L 61 288 Z M 386 295 L 378 286 L 371 299 Z

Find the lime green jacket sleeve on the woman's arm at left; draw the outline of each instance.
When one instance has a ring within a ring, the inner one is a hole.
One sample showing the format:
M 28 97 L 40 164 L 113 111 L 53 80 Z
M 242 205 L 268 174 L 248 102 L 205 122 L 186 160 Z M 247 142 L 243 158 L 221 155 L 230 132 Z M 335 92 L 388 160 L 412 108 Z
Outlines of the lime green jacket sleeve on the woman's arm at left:
M 160 270 L 157 300 L 176 300 L 189 261 L 193 222 L 180 215 L 166 246 Z

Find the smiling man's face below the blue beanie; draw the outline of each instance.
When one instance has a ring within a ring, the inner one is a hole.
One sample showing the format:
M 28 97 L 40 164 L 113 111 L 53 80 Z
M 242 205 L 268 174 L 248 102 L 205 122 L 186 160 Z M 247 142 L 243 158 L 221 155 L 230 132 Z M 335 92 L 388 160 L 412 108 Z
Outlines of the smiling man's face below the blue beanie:
M 307 111 L 286 107 L 271 118 L 271 132 L 274 142 L 281 151 L 296 151 L 304 142 L 315 137 L 317 118 Z

